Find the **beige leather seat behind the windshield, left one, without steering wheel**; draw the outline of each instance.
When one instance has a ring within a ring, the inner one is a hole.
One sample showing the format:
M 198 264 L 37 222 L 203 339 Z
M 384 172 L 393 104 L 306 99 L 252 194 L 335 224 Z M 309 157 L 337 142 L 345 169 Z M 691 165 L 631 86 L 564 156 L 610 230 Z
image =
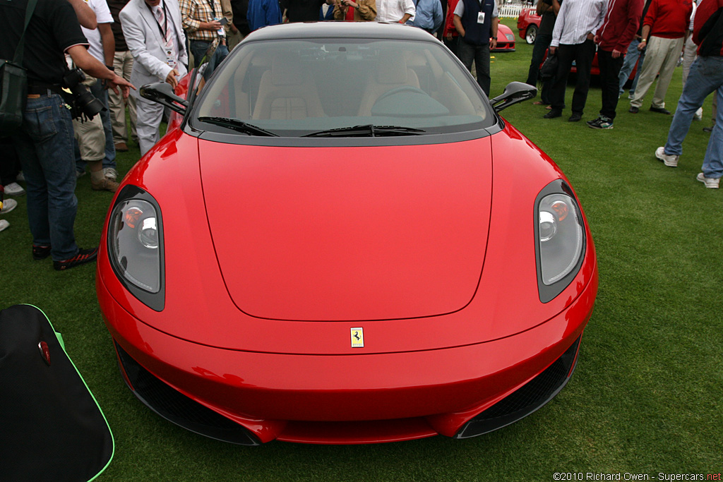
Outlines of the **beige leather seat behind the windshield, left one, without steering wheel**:
M 308 69 L 295 53 L 280 53 L 261 77 L 253 119 L 322 117 L 321 100 Z

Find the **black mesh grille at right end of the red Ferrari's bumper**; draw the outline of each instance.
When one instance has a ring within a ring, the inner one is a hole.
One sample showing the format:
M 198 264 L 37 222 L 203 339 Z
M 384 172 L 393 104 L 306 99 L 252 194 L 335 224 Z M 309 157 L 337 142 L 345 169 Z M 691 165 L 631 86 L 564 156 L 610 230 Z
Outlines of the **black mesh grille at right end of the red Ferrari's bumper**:
M 501 429 L 552 400 L 568 382 L 579 345 L 580 337 L 541 374 L 466 423 L 456 437 L 465 439 Z

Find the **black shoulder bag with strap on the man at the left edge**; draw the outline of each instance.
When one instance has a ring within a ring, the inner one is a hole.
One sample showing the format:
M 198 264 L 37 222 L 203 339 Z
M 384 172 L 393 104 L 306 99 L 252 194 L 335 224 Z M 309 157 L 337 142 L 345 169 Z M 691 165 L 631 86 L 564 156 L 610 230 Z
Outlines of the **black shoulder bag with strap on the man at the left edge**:
M 22 67 L 25 32 L 38 0 L 27 2 L 25 26 L 12 61 L 0 59 L 0 135 L 7 136 L 20 127 L 27 103 L 27 70 Z

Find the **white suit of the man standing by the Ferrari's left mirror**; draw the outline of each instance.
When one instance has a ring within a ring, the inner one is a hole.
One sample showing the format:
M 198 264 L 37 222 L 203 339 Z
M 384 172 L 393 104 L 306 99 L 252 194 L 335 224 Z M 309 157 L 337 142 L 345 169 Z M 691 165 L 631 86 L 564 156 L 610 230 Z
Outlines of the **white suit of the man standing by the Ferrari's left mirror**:
M 181 8 L 177 0 L 165 2 L 164 12 L 168 12 L 165 25 L 173 28 L 176 35 L 178 59 L 175 68 L 181 77 L 187 73 L 188 53 L 186 37 L 181 24 Z M 163 4 L 161 4 L 163 6 Z M 120 13 L 123 36 L 133 56 L 133 72 L 130 82 L 140 88 L 152 82 L 164 82 L 174 67 L 168 65 L 161 25 L 144 0 L 130 0 Z M 150 150 L 160 137 L 158 127 L 163 119 L 163 106 L 141 98 L 137 90 L 131 90 L 137 100 L 137 133 L 141 155 Z

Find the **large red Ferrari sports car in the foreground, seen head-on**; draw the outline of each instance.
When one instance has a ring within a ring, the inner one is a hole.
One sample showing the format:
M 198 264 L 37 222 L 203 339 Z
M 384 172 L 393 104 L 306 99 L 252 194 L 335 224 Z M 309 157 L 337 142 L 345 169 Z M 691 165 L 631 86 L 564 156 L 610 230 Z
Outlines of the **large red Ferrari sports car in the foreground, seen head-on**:
M 197 72 L 197 71 L 195 71 Z M 247 36 L 132 168 L 100 309 L 142 403 L 239 444 L 500 429 L 570 379 L 597 291 L 557 165 L 423 30 Z M 542 414 L 541 416 L 544 416 Z

